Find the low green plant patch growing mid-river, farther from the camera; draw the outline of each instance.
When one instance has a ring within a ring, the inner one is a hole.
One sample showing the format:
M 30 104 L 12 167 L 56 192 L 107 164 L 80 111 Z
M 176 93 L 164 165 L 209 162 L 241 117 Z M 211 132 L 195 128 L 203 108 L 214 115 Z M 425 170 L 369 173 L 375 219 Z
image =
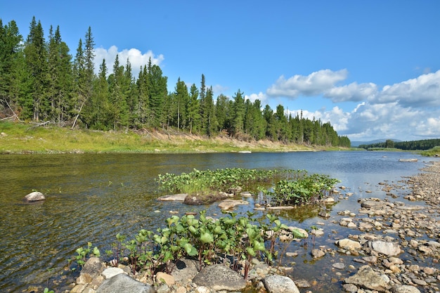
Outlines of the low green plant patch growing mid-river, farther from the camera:
M 277 181 L 278 180 L 278 181 Z M 327 175 L 311 174 L 306 170 L 255 170 L 216 169 L 194 171 L 181 175 L 159 175 L 156 180 L 162 191 L 209 195 L 214 192 L 233 193 L 235 188 L 255 188 L 271 205 L 304 204 L 321 200 L 331 195 L 340 181 Z M 269 189 L 273 182 L 275 185 Z M 261 186 L 264 185 L 264 186 Z

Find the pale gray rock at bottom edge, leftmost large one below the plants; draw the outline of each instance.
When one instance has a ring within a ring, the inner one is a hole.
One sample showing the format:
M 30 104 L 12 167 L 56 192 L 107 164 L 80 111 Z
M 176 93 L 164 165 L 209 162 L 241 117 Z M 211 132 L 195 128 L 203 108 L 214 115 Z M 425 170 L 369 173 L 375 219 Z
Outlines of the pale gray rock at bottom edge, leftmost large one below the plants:
M 155 293 L 155 289 L 148 284 L 136 281 L 129 275 L 119 274 L 105 280 L 96 289 L 96 293 Z

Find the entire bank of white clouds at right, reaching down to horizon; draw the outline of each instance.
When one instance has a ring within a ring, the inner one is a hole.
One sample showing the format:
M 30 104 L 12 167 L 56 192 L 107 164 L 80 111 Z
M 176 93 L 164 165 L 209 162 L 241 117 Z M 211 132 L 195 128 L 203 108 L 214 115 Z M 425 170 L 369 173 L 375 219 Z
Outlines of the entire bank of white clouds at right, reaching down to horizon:
M 289 79 L 282 76 L 267 89 L 267 95 L 275 100 L 302 98 L 306 103 L 310 99 L 320 103 L 322 98 L 333 103 L 357 102 L 349 112 L 342 110 L 340 105 L 331 110 L 302 110 L 303 117 L 330 122 L 339 135 L 347 135 L 351 140 L 399 138 L 411 141 L 440 137 L 440 70 L 382 89 L 373 83 L 336 85 L 346 77 L 347 70 L 320 70 Z M 289 112 L 295 116 L 300 111 Z

